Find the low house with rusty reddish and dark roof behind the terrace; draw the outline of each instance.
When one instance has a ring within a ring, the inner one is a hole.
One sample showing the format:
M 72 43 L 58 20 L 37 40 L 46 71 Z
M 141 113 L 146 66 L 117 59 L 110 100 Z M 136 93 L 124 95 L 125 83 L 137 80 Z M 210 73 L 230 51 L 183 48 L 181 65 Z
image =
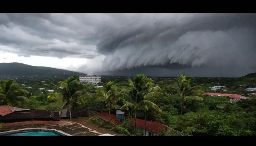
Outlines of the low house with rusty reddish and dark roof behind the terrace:
M 59 112 L 48 110 L 21 109 L 13 106 L 0 106 L 0 122 L 17 122 L 30 120 L 60 120 Z

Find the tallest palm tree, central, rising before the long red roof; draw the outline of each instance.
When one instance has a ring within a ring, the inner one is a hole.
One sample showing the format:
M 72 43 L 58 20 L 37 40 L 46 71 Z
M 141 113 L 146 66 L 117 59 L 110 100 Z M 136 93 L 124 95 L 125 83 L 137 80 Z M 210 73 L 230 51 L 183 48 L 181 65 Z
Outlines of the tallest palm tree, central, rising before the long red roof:
M 129 81 L 129 90 L 125 90 L 122 94 L 126 95 L 127 101 L 123 101 L 123 106 L 120 110 L 132 110 L 134 111 L 135 118 L 135 134 L 136 134 L 136 114 L 139 108 L 153 108 L 159 112 L 161 109 L 154 104 L 153 102 L 147 100 L 149 98 L 159 95 L 159 92 L 150 92 L 159 90 L 160 87 L 152 88 L 152 80 L 147 78 L 144 74 L 136 75 L 135 81 L 133 82 L 130 78 Z M 162 93 L 161 93 L 162 94 Z

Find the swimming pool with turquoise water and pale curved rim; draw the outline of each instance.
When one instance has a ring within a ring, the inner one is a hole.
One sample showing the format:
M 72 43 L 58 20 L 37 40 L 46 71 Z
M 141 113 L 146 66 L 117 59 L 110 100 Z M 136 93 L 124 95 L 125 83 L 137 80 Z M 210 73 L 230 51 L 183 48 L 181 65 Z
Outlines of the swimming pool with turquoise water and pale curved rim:
M 27 128 L 27 129 L 12 130 L 7 132 L 0 132 L 0 136 L 70 136 L 70 135 L 56 129 Z

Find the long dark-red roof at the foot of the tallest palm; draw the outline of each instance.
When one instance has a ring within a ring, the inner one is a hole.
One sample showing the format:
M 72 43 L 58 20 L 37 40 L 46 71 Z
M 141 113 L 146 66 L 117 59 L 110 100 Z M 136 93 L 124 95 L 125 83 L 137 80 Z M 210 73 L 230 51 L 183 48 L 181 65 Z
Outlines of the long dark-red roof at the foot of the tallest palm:
M 135 118 L 130 118 L 131 125 L 135 126 Z M 160 132 L 167 126 L 157 122 L 146 121 L 147 131 L 154 132 L 155 134 L 160 134 Z M 136 119 L 136 127 L 145 129 L 145 120 Z

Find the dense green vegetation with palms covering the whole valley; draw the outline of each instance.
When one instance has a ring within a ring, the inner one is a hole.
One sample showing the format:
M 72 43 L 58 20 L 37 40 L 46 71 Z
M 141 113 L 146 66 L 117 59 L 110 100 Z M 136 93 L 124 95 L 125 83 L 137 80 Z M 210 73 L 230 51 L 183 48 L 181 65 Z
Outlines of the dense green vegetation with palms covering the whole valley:
M 185 75 L 149 78 L 137 75 L 134 78 L 102 77 L 102 80 L 105 84 L 101 89 L 84 85 L 75 76 L 55 81 L 17 80 L 18 84 L 13 80 L 2 80 L 0 104 L 52 111 L 60 110 L 63 105 L 70 108 L 87 106 L 90 114 L 114 113 L 114 105 L 119 104 L 125 110 L 126 118 L 118 125 L 97 118 L 91 121 L 107 123 L 105 128 L 124 135 L 144 134 L 136 126 L 129 126 L 129 117 L 166 124 L 171 130 L 164 135 L 176 135 L 174 131 L 191 136 L 256 135 L 256 99 L 248 95 L 251 92 L 244 91 L 247 87 L 256 87 L 256 74 L 240 78 L 192 78 Z M 25 82 L 26 86 L 19 86 Z M 209 90 L 216 85 L 229 89 Z M 39 91 L 38 88 L 45 89 Z M 54 92 L 48 92 L 49 89 L 54 89 Z M 231 103 L 228 97 L 205 96 L 203 92 L 242 94 L 250 99 Z

